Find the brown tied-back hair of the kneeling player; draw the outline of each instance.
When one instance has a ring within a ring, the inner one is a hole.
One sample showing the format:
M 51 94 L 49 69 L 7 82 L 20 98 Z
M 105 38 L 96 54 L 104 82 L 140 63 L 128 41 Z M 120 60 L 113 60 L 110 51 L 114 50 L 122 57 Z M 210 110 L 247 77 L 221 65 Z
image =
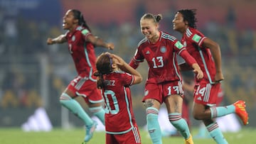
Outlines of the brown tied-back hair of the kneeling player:
M 104 89 L 106 86 L 104 74 L 110 74 L 112 72 L 112 58 L 108 52 L 102 53 L 96 60 L 97 72 L 94 73 L 97 79 L 97 88 Z

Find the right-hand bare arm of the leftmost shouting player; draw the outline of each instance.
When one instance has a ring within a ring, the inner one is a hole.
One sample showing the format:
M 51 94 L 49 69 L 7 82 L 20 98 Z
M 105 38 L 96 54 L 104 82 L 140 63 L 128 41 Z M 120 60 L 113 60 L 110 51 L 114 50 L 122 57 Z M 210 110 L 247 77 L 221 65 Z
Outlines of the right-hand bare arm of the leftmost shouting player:
M 94 36 L 94 35 L 88 35 L 87 36 L 87 41 L 89 41 L 93 45 L 104 47 L 104 48 L 107 48 L 109 50 L 114 49 L 114 44 L 113 43 L 105 43 L 104 40 L 102 40 L 101 38 L 98 38 L 97 36 Z

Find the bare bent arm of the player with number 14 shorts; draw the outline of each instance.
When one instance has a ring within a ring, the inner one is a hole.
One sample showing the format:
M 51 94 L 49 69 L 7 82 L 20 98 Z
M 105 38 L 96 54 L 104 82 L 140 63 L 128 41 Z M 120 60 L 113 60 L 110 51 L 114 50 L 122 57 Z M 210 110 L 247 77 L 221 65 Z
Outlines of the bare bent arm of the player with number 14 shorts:
M 222 81 L 224 77 L 221 70 L 220 45 L 218 45 L 218 43 L 215 43 L 213 40 L 210 40 L 210 38 L 206 38 L 205 40 L 203 40 L 203 47 L 210 48 L 210 52 L 213 55 L 213 60 L 215 62 L 215 67 L 216 67 L 216 75 L 214 77 L 214 81 L 215 82 Z

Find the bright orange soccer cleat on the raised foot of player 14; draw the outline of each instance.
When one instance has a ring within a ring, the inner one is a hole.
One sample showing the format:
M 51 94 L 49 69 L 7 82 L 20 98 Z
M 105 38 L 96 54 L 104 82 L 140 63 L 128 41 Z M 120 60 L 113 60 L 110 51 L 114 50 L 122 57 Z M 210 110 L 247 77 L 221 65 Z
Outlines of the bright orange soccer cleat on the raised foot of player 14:
M 244 125 L 248 124 L 248 113 L 245 109 L 246 105 L 245 105 L 245 101 L 236 101 L 234 104 L 235 106 L 235 113 L 240 117 L 240 119 L 242 120 L 242 123 Z

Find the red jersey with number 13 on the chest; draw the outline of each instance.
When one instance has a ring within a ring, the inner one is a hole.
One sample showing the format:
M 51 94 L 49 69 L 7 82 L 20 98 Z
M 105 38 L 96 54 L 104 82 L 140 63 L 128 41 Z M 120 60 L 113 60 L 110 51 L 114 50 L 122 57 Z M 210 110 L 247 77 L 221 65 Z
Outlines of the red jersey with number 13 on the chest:
M 149 83 L 176 81 L 181 80 L 176 55 L 183 50 L 186 48 L 174 36 L 160 32 L 159 40 L 156 43 L 150 43 L 147 38 L 139 42 L 133 60 L 143 62 L 146 59 L 149 65 L 147 79 Z

